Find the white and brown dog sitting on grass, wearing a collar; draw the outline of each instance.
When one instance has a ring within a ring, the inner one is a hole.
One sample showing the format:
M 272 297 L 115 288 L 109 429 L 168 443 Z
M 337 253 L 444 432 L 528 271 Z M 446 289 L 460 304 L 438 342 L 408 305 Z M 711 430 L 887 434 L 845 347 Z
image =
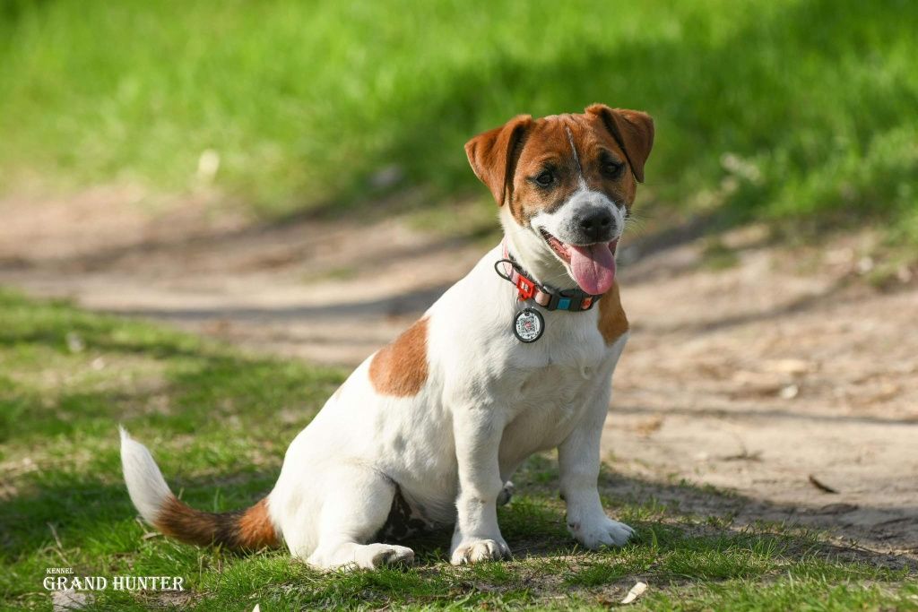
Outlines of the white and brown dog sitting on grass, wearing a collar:
M 497 506 L 556 448 L 567 529 L 588 549 L 633 529 L 599 500 L 599 437 L 628 339 L 615 250 L 654 142 L 640 111 L 519 116 L 465 145 L 504 239 L 331 395 L 286 451 L 274 489 L 212 514 L 173 495 L 140 442 L 121 459 L 140 515 L 199 545 L 279 546 L 320 568 L 411 563 L 390 543 L 454 526 L 453 564 L 509 558 Z

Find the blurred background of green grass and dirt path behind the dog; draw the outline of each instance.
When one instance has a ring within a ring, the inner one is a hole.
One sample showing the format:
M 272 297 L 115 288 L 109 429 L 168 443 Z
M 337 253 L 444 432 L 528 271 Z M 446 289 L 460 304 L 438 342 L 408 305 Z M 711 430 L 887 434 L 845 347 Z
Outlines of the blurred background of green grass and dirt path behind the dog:
M 615 469 L 913 546 L 916 24 L 911 0 L 0 0 L 0 284 L 353 366 L 498 240 L 467 139 L 641 109 Z

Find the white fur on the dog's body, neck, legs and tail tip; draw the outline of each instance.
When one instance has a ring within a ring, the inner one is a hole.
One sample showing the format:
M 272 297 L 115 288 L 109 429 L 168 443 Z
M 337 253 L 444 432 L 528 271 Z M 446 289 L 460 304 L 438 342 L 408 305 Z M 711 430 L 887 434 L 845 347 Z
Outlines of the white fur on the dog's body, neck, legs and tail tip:
M 593 196 L 578 192 L 563 208 L 582 197 Z M 501 220 L 509 250 L 538 280 L 573 286 L 536 231 L 506 207 Z M 521 343 L 511 332 L 515 288 L 494 271 L 501 258 L 499 246 L 490 250 L 427 311 L 420 393 L 377 393 L 371 356 L 290 444 L 268 507 L 295 557 L 320 568 L 410 562 L 409 549 L 374 542 L 398 488 L 431 526 L 455 526 L 453 563 L 506 558 L 498 498 L 521 462 L 553 448 L 574 538 L 595 549 L 631 536 L 597 491 L 599 436 L 626 336 L 607 346 L 593 308 L 543 312 L 543 337 Z M 169 489 L 150 453 L 123 431 L 122 440 L 131 499 L 151 520 Z

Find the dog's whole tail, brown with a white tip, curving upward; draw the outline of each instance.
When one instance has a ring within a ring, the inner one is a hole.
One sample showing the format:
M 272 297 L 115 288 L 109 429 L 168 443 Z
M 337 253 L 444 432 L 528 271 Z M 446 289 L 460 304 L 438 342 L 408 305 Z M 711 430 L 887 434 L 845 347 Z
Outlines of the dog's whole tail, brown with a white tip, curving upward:
M 248 510 L 215 514 L 179 501 L 169 490 L 147 447 L 121 431 L 121 466 L 130 501 L 143 517 L 167 536 L 207 546 L 216 544 L 237 551 L 257 551 L 279 545 L 278 529 L 268 513 L 268 498 Z

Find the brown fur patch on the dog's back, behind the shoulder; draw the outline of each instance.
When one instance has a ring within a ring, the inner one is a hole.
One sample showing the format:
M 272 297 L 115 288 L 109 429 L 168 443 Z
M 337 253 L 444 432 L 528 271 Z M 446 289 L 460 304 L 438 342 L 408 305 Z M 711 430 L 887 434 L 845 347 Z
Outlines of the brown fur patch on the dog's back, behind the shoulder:
M 421 318 L 370 362 L 370 382 L 377 393 L 410 397 L 427 381 L 427 318 Z

